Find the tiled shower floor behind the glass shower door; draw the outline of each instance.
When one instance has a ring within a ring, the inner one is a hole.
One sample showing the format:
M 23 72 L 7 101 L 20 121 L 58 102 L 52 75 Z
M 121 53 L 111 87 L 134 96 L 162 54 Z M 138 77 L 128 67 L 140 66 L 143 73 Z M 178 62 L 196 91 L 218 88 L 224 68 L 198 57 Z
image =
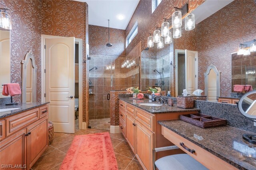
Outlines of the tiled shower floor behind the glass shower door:
M 110 130 L 110 118 L 106 119 L 89 119 L 89 125 L 91 128 Z

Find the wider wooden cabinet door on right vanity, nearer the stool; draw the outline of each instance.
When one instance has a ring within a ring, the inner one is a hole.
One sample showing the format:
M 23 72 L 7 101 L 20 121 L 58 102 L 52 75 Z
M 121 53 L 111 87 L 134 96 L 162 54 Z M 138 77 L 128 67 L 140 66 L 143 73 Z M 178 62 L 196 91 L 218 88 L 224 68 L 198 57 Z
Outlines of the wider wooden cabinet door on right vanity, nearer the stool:
M 136 121 L 136 157 L 143 169 L 152 170 L 154 133 Z

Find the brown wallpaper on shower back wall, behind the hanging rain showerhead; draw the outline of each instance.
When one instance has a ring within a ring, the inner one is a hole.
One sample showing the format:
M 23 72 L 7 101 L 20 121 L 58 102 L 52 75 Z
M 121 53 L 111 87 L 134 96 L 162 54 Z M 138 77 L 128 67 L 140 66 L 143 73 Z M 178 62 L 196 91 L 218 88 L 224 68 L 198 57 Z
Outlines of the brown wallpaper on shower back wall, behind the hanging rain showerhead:
M 90 55 L 125 55 L 125 30 L 110 28 L 110 43 L 113 46 L 107 47 L 107 43 L 108 28 L 89 25 Z

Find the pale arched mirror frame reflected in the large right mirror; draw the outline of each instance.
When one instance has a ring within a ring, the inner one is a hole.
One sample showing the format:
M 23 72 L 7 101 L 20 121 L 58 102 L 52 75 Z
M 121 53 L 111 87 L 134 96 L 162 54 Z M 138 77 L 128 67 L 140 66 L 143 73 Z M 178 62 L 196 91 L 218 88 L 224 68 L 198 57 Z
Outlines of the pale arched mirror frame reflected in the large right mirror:
M 211 69 L 214 71 L 214 73 L 216 74 L 216 79 L 217 79 L 217 94 L 216 96 L 220 96 L 220 73 L 221 71 L 218 71 L 217 67 L 215 65 L 210 65 L 206 72 L 204 73 L 204 95 L 208 96 L 208 75 L 210 74 Z

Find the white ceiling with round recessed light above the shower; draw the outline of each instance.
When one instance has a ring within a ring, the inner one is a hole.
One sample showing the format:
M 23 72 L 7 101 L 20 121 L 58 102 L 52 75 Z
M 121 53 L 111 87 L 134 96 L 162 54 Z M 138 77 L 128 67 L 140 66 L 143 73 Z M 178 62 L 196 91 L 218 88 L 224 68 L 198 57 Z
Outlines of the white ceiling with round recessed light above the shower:
M 140 0 L 76 0 L 87 2 L 89 8 L 89 25 L 125 30 Z M 122 14 L 123 20 L 117 16 Z

